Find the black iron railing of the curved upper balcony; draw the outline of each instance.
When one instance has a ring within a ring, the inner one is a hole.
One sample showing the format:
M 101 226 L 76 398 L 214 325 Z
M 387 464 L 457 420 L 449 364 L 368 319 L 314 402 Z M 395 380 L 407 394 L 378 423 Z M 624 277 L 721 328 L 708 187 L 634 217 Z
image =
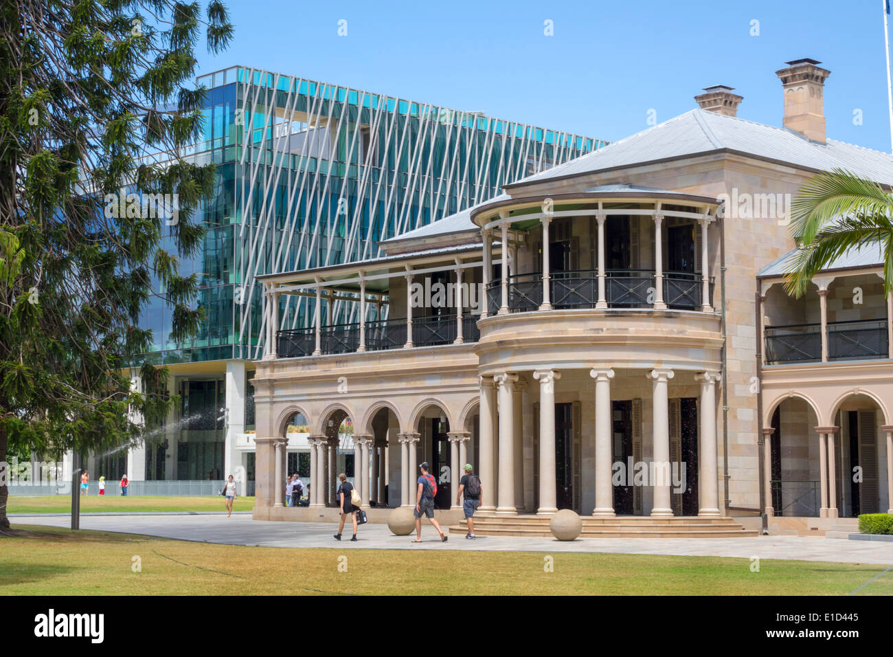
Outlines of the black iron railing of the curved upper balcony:
M 511 312 L 536 310 L 543 299 L 543 278 L 534 274 L 515 274 L 508 277 L 508 307 Z M 703 305 L 703 282 L 700 274 L 665 272 L 663 299 L 667 307 L 697 310 Z M 710 281 L 710 298 L 714 296 L 714 281 Z M 598 303 L 598 272 L 579 270 L 553 272 L 549 280 L 549 301 L 552 307 L 596 307 Z M 655 302 L 655 273 L 651 270 L 613 269 L 605 272 L 605 302 L 613 308 L 648 308 Z M 502 305 L 502 281 L 491 281 L 487 287 L 487 309 L 496 315 Z

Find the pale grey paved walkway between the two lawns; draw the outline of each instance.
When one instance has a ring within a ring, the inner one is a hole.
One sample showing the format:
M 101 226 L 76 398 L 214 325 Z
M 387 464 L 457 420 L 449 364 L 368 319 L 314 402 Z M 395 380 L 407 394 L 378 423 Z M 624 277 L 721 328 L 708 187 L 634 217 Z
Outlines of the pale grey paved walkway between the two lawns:
M 71 526 L 68 517 L 16 516 L 16 524 Z M 849 541 L 818 536 L 755 536 L 746 538 L 583 538 L 563 543 L 552 538 L 481 536 L 475 541 L 449 535 L 440 543 L 430 524 L 422 526 L 423 543 L 412 536 L 395 536 L 387 525 L 360 527 L 357 542 L 336 543 L 338 526 L 327 522 L 273 522 L 252 520 L 248 515 L 140 515 L 96 514 L 80 518 L 82 529 L 128 532 L 205 543 L 260 545 L 265 547 L 376 549 L 376 550 L 480 550 L 513 552 L 615 552 L 624 554 L 672 554 L 750 559 L 797 559 L 872 563 L 893 566 L 893 543 Z M 349 525 L 346 538 L 350 538 Z

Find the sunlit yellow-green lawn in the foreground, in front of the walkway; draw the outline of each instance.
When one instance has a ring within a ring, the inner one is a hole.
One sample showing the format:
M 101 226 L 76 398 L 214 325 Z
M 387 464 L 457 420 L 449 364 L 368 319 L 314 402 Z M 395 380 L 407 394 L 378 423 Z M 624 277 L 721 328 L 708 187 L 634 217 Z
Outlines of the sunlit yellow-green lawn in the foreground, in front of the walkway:
M 0 535 L 0 595 L 848 594 L 886 567 L 797 560 L 266 548 L 16 526 Z M 136 563 L 141 570 L 134 571 Z M 338 570 L 346 563 L 346 572 Z M 893 594 L 890 571 L 859 594 Z

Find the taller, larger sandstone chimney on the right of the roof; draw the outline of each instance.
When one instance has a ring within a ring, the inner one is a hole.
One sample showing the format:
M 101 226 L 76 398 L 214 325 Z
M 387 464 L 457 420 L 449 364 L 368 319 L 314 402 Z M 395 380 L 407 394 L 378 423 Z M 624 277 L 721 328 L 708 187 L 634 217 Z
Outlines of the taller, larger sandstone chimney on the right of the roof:
M 806 139 L 825 142 L 825 114 L 822 88 L 831 74 L 819 68 L 814 59 L 785 62 L 787 68 L 776 71 L 784 88 L 784 127 Z

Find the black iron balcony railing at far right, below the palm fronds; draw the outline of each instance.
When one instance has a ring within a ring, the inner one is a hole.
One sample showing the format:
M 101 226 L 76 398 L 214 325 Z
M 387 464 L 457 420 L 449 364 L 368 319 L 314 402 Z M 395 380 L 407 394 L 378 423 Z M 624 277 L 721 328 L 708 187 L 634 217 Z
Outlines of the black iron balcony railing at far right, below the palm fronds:
M 766 326 L 766 363 L 822 361 L 822 324 Z M 828 359 L 889 358 L 887 320 L 829 322 Z

